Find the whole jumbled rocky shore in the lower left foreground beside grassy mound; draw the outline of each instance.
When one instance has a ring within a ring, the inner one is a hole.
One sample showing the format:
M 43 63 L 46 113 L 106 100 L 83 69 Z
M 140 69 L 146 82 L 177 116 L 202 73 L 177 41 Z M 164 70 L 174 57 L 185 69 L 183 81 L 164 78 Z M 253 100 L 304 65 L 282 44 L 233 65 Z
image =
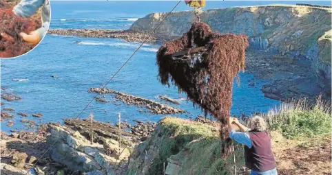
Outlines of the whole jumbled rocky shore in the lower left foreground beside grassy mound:
M 65 119 L 64 123 L 43 124 L 37 132 L 12 130 L 10 136 L 1 132 L 1 174 L 23 175 L 34 163 L 30 171 L 37 174 L 124 174 L 129 150 L 143 137 L 123 129 L 119 140 L 117 126 L 93 121 L 94 140 L 90 143 L 89 120 Z M 156 126 L 138 123 L 131 128 L 144 131 L 145 125 Z

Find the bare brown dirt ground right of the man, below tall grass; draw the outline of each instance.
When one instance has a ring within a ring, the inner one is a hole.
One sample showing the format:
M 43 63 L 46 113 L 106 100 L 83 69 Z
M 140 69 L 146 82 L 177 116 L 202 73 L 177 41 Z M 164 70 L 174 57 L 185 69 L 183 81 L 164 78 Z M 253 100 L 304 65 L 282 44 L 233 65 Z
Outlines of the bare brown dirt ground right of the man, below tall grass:
M 282 138 L 271 133 L 272 148 L 280 175 L 331 174 L 331 139 L 304 147 L 300 141 Z M 313 142 L 313 141 L 310 141 Z

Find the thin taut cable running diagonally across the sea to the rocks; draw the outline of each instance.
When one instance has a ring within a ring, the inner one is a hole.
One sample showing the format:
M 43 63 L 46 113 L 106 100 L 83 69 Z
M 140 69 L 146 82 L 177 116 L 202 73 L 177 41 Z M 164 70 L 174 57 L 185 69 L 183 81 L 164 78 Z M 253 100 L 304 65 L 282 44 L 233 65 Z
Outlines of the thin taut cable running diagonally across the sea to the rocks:
M 165 16 L 165 18 L 163 19 L 163 21 L 160 21 L 160 23 L 157 25 L 157 27 L 154 28 L 154 30 L 153 30 L 153 32 L 152 32 L 153 34 L 154 34 L 154 33 L 156 32 L 156 30 L 160 27 L 160 25 L 165 21 L 165 19 L 167 19 L 167 17 L 169 16 L 169 14 L 171 14 L 171 13 L 175 10 L 175 8 L 180 4 L 181 1 L 182 1 L 182 0 L 178 1 L 178 3 L 176 3 L 176 5 L 174 6 L 174 8 L 172 8 L 172 10 L 171 10 L 170 12 L 167 13 L 167 15 Z M 145 40 L 143 40 L 143 43 L 141 43 L 141 45 L 140 45 L 140 46 L 134 51 L 134 53 L 133 53 L 131 56 L 129 56 L 129 58 L 127 58 L 127 60 L 126 60 L 126 61 L 123 63 L 123 65 L 118 69 L 118 71 L 116 71 L 116 73 L 114 73 L 114 75 L 112 76 L 112 78 L 110 78 L 110 80 L 107 81 L 107 83 L 103 86 L 103 88 L 105 88 L 105 86 L 107 86 L 107 84 L 109 84 L 109 83 L 113 80 L 113 78 L 115 77 L 115 75 L 118 74 L 118 72 L 121 71 L 121 69 L 122 69 L 123 67 L 125 67 L 125 64 L 127 64 L 127 62 L 128 62 L 130 59 L 132 59 L 132 57 L 134 56 L 134 54 L 136 54 L 136 52 L 138 51 L 138 49 L 141 49 L 141 47 L 144 45 L 144 43 L 147 42 L 147 39 L 148 39 L 148 38 L 146 38 Z M 85 108 L 83 108 L 83 110 L 81 111 L 81 113 L 79 113 L 79 115 L 77 115 L 77 117 L 75 117 L 75 119 L 78 119 L 78 118 L 80 117 L 80 115 L 84 112 L 84 110 L 85 110 L 88 106 L 90 106 L 90 104 L 94 101 L 94 99 L 95 99 L 98 95 L 99 95 L 99 94 L 95 95 L 95 96 L 92 98 L 92 100 L 87 104 L 87 106 L 85 106 Z M 56 143 L 56 140 L 52 143 L 52 145 L 50 145 L 50 147 L 48 148 L 48 150 L 50 150 L 50 148 L 52 148 L 53 145 L 54 145 L 55 143 Z M 42 154 L 42 156 L 39 158 L 39 160 L 40 160 L 41 158 L 43 158 L 43 156 L 46 154 L 46 152 L 48 152 L 48 150 L 46 150 L 46 151 Z M 37 161 L 37 162 L 38 162 L 38 161 Z M 36 166 L 37 162 L 34 163 L 34 165 L 33 165 L 32 168 L 34 168 L 34 167 Z M 30 168 L 30 170 L 31 170 L 32 168 Z M 30 170 L 28 170 L 28 171 L 25 173 L 25 175 L 28 174 L 28 173 L 30 172 Z

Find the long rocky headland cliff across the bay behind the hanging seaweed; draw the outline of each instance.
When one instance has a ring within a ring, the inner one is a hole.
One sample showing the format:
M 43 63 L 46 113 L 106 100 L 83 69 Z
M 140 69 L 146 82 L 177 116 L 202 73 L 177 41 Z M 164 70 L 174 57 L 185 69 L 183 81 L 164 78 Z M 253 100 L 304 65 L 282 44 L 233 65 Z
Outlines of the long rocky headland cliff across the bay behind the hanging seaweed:
M 154 13 L 138 19 L 130 28 L 152 32 L 165 18 Z M 221 33 L 246 34 L 249 48 L 271 54 L 309 60 L 310 73 L 331 94 L 331 10 L 298 5 L 265 5 L 205 10 L 201 21 Z M 156 31 L 159 35 L 180 36 L 195 20 L 194 12 L 174 12 Z

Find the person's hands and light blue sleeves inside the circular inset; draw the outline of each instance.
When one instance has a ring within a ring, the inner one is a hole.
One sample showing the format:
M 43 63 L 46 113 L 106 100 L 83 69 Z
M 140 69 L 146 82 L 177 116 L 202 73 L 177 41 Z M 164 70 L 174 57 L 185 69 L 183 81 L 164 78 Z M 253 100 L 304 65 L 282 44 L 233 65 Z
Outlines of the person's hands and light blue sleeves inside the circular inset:
M 12 10 L 14 14 L 20 17 L 27 18 L 36 13 L 39 8 L 41 9 L 41 21 L 42 25 L 39 29 L 30 32 L 30 34 L 20 33 L 20 36 L 28 43 L 37 44 L 43 39 L 48 27 L 50 26 L 50 2 L 48 0 L 21 0 Z

